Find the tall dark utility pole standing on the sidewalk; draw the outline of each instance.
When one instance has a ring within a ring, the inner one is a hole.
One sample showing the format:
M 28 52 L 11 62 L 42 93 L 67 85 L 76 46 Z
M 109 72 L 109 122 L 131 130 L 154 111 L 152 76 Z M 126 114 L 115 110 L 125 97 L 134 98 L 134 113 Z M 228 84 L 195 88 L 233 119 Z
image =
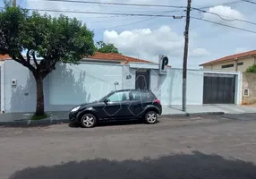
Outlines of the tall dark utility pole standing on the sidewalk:
M 183 112 L 186 112 L 187 102 L 187 61 L 188 61 L 188 48 L 189 48 L 189 29 L 190 29 L 190 14 L 191 14 L 192 0 L 188 0 L 187 13 L 186 13 L 186 27 L 184 31 L 184 55 L 183 55 Z

